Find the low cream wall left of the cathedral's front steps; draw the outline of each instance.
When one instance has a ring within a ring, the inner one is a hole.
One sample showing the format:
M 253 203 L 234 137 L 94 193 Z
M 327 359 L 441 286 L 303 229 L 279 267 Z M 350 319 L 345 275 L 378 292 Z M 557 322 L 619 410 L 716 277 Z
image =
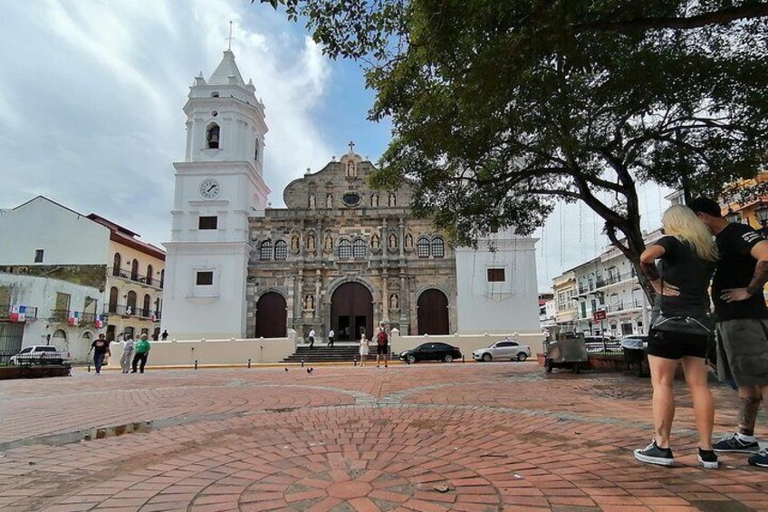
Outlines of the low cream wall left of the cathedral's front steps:
M 182 364 L 247 364 L 281 362 L 296 347 L 295 333 L 288 338 L 248 338 L 229 340 L 171 340 L 150 342 L 148 366 Z M 125 343 L 111 343 L 110 368 L 120 368 Z

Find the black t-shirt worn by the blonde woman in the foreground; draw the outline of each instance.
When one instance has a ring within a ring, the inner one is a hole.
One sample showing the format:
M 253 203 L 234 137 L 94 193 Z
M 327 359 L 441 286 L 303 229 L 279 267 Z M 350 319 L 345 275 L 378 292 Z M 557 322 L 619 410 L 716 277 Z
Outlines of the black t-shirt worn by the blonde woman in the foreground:
M 658 266 L 663 285 L 675 285 L 680 290 L 680 295 L 674 297 L 658 294 L 654 309 L 665 316 L 709 314 L 709 280 L 715 262 L 699 257 L 692 246 L 676 237 L 661 237 L 654 245 L 664 247 Z

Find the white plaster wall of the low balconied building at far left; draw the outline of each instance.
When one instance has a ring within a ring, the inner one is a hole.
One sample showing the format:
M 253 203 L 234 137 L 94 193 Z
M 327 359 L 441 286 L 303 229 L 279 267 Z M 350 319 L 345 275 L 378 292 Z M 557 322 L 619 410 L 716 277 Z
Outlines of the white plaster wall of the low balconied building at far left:
M 86 353 L 91 348 L 91 341 L 98 337 L 100 331 L 94 324 L 72 326 L 66 321 L 52 322 L 56 305 L 56 293 L 69 294 L 70 309 L 82 311 L 86 297 L 99 300 L 96 311 L 101 313 L 101 292 L 91 286 L 74 285 L 67 281 L 38 277 L 34 275 L 17 275 L 0 273 L 0 285 L 11 287 L 11 304 L 26 305 L 37 308 L 37 319 L 29 319 L 24 324 L 22 347 L 46 344 L 46 337 L 51 334 L 51 344 L 62 352 L 70 353 L 72 360 L 84 362 Z M 56 331 L 63 331 L 65 338 L 53 337 Z M 84 335 L 90 335 L 90 338 Z

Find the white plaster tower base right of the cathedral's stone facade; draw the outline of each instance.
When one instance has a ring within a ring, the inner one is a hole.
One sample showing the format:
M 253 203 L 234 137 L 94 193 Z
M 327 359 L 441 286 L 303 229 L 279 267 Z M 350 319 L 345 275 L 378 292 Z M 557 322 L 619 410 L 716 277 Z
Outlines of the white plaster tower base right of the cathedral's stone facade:
M 536 240 L 494 237 L 496 250 L 456 249 L 458 333 L 541 333 L 536 284 Z M 504 283 L 488 283 L 488 268 L 504 268 Z

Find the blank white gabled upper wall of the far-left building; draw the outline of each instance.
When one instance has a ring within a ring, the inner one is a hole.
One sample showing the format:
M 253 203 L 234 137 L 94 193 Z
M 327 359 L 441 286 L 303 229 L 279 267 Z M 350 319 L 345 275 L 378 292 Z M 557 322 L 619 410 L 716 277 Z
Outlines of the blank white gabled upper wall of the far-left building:
M 2 265 L 104 265 L 110 230 L 39 197 L 0 211 L 0 240 Z M 43 263 L 34 263 L 36 249 Z

